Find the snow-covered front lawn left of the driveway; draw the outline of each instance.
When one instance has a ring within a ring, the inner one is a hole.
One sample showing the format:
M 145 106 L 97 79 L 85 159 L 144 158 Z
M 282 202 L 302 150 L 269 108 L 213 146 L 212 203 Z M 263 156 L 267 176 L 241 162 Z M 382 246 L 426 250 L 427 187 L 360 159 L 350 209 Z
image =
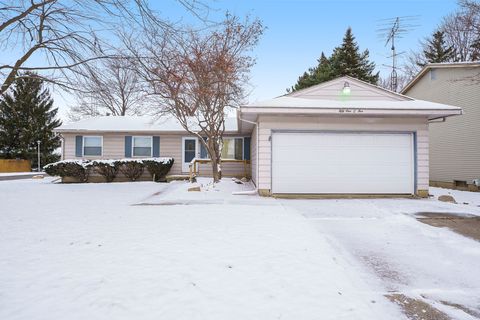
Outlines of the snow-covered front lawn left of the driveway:
M 402 319 L 334 225 L 256 196 L 132 205 L 174 185 L 0 182 L 0 319 Z

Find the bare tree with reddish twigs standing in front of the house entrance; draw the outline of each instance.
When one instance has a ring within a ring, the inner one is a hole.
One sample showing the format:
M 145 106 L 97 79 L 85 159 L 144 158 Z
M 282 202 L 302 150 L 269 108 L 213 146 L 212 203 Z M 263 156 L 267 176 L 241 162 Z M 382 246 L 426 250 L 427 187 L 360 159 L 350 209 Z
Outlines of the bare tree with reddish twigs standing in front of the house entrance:
M 255 63 L 249 53 L 263 30 L 258 19 L 240 21 L 227 15 L 206 30 L 172 34 L 146 29 L 140 41 L 125 38 L 136 70 L 155 97 L 156 113 L 175 117 L 199 138 L 210 156 L 215 182 L 221 178 L 227 108 L 245 97 L 244 87 Z

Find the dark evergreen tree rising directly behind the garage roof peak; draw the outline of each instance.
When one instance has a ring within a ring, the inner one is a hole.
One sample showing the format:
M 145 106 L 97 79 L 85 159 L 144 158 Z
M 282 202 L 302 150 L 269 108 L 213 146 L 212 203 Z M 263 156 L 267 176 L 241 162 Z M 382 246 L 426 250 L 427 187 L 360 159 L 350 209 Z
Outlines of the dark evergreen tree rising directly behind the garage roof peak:
M 318 65 L 300 76 L 287 91 L 308 88 L 344 75 L 376 84 L 379 73 L 374 74 L 374 69 L 375 63 L 369 61 L 368 50 L 360 52 L 352 29 L 348 28 L 342 45 L 334 49 L 332 56 L 327 58 L 322 52 Z

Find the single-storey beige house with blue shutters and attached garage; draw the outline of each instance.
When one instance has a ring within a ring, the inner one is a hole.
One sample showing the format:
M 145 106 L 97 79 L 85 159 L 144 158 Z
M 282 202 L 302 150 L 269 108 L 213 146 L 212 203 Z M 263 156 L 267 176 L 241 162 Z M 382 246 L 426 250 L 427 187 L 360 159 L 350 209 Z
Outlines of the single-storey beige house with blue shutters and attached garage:
M 427 196 L 429 122 L 461 113 L 345 76 L 242 106 L 226 124 L 222 158 L 249 161 L 265 196 Z M 188 173 L 194 157 L 205 156 L 173 120 L 102 117 L 57 131 L 64 158 L 169 156 L 175 159 L 171 173 L 180 174 Z M 241 163 L 226 165 L 224 175 L 242 172 Z

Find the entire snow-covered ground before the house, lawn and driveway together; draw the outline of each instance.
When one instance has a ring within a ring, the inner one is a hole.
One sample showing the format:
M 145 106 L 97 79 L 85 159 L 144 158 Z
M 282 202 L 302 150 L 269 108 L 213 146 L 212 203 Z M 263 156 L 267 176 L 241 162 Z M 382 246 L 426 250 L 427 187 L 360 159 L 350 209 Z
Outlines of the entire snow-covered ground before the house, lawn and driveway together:
M 404 319 L 480 304 L 480 244 L 430 200 L 275 200 L 152 182 L 0 182 L 0 319 Z

